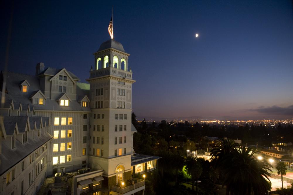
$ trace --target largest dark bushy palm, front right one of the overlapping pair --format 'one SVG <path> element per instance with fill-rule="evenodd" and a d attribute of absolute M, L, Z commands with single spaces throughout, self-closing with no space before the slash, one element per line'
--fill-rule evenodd
<path fill-rule="evenodd" d="M 227 186 L 226 194 L 266 194 L 270 190 L 270 164 L 258 160 L 252 148 L 239 148 L 231 159 L 231 165 L 223 170 L 223 184 Z M 267 180 L 268 181 L 267 181 Z"/>

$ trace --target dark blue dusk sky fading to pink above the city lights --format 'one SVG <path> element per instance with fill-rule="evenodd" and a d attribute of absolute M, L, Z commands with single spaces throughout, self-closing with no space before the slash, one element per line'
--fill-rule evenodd
<path fill-rule="evenodd" d="M 15 2 L 8 70 L 44 62 L 85 82 L 113 4 L 137 116 L 292 118 L 292 0 Z M 1 7 L 3 69 L 11 4 Z"/>

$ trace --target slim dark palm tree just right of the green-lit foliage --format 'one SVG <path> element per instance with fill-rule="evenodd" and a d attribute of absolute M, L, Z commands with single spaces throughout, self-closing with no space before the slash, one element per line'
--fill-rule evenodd
<path fill-rule="evenodd" d="M 194 179 L 196 179 L 196 194 L 198 194 L 197 181 L 202 174 L 202 166 L 197 158 L 192 156 L 187 157 L 185 162 L 185 171 L 191 176 L 192 180 L 192 190 L 194 190 Z"/>

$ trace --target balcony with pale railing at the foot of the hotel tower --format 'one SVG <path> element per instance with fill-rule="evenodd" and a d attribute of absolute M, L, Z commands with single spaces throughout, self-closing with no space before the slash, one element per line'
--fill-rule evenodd
<path fill-rule="evenodd" d="M 130 186 L 126 186 L 124 188 L 120 188 L 118 186 L 112 186 L 112 192 L 110 194 L 116 195 L 116 194 L 134 194 L 138 191 L 144 190 L 144 180 L 142 179 L 137 179 L 137 178 L 132 178 L 132 181 L 134 184 L 131 184 Z M 114 192 L 114 193 L 113 193 Z"/>

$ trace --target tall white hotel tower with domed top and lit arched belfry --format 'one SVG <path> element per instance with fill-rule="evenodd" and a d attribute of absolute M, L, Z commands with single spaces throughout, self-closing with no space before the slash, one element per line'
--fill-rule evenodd
<path fill-rule="evenodd" d="M 89 167 L 103 169 L 104 186 L 131 179 L 132 72 L 122 44 L 110 39 L 100 45 L 90 78 Z"/>

